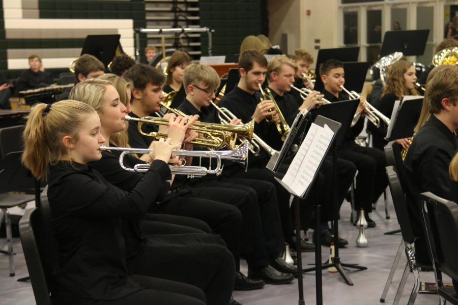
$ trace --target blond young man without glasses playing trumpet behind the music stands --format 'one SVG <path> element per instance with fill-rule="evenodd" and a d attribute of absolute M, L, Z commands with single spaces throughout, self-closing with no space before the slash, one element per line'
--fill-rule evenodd
<path fill-rule="evenodd" d="M 269 88 L 272 96 L 275 99 L 278 107 L 284 118 L 287 120 L 288 125 L 292 125 L 296 115 L 299 111 L 306 109 L 308 111 L 316 111 L 316 108 L 323 104 L 323 95 L 317 91 L 312 91 L 305 100 L 301 99 L 301 104 L 298 107 L 293 96 L 289 93 L 291 90 L 291 84 L 294 82 L 294 75 L 296 74 L 298 67 L 296 64 L 285 55 L 278 55 L 272 58 L 267 68 L 267 78 L 269 81 Z M 268 139 L 265 139 L 275 149 L 281 149 L 283 141 L 278 133 L 271 135 Z M 341 204 L 350 188 L 353 176 L 356 172 L 356 167 L 346 160 L 337 159 L 337 198 Z M 320 194 L 321 206 L 323 209 L 322 214 L 322 241 L 323 245 L 329 246 L 332 241 L 332 232 L 328 226 L 328 221 L 334 220 L 334 202 L 333 192 L 326 190 L 334 190 L 330 182 L 332 181 L 332 159 L 326 158 L 323 162 L 318 178 L 318 189 Z M 310 194 L 309 199 L 313 201 L 316 195 Z M 310 211 L 311 212 L 311 211 Z M 311 215 L 310 215 L 311 216 Z M 316 237 L 316 235 L 313 235 Z M 345 239 L 339 239 L 339 246 L 348 245 L 348 241 Z"/>

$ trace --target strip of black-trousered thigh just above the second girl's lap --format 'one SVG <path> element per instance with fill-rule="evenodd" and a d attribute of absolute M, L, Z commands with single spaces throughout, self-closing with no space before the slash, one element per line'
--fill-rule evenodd
<path fill-rule="evenodd" d="M 207 223 L 195 218 L 147 213 L 141 222 L 145 234 L 211 233 Z"/>

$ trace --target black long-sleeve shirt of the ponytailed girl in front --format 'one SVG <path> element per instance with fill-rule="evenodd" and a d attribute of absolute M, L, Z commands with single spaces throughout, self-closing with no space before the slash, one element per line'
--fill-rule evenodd
<path fill-rule="evenodd" d="M 53 275 L 53 301 L 79 298 L 113 300 L 143 289 L 128 276 L 121 218 L 143 215 L 170 175 L 154 161 L 130 192 L 109 184 L 90 165 L 59 162 L 48 173 L 53 234 L 58 242 L 59 270 Z"/>

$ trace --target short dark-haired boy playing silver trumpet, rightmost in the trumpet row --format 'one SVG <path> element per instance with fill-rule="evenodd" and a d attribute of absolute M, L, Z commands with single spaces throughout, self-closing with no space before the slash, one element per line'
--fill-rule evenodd
<path fill-rule="evenodd" d="M 344 65 L 335 59 L 328 59 L 320 67 L 321 80 L 324 84 L 323 94 L 325 99 L 332 102 L 349 100 L 347 94 L 342 92 L 345 84 Z M 375 227 L 376 223 L 370 218 L 372 204 L 378 200 L 386 189 L 388 180 L 385 173 L 385 155 L 383 151 L 363 147 L 355 143 L 355 138 L 364 127 L 364 99 L 361 98 L 352 127 L 348 130 L 346 138 L 337 147 L 337 156 L 356 165 L 355 208 L 364 208 L 368 227 Z"/>

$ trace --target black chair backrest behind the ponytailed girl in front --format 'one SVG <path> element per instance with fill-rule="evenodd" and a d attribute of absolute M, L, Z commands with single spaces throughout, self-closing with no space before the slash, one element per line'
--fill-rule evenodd
<path fill-rule="evenodd" d="M 19 221 L 19 233 L 37 305 L 50 305 L 51 275 L 58 266 L 58 254 L 38 208 L 25 211 Z"/>

